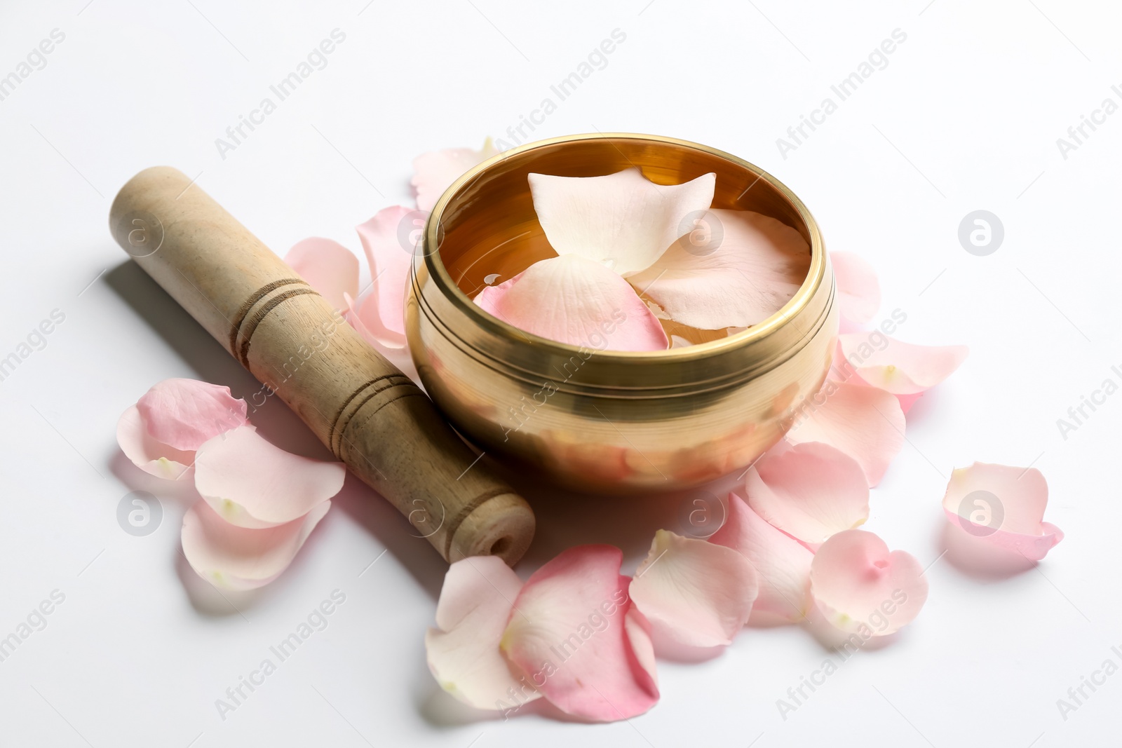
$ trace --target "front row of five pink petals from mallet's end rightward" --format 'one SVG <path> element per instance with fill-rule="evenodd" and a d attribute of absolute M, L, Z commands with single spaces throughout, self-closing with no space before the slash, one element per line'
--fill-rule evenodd
<path fill-rule="evenodd" d="M 525 583 L 499 558 L 444 578 L 429 668 L 458 700 L 516 713 L 544 698 L 589 721 L 629 719 L 659 700 L 655 654 L 732 644 L 749 619 L 798 622 L 810 606 L 855 647 L 899 630 L 927 599 L 919 562 L 872 533 L 843 530 L 815 553 L 736 495 L 712 541 L 659 530 L 634 578 L 623 552 L 569 548 Z"/>

